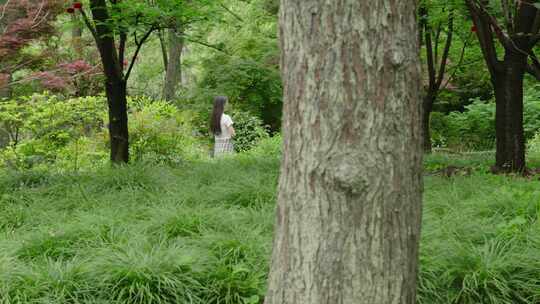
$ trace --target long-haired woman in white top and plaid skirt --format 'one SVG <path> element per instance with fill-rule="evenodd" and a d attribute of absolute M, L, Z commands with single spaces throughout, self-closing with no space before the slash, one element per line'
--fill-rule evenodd
<path fill-rule="evenodd" d="M 233 121 L 224 112 L 227 104 L 227 97 L 217 96 L 214 98 L 214 110 L 210 120 L 210 130 L 214 134 L 214 157 L 234 152 L 232 138 L 235 135 Z"/>

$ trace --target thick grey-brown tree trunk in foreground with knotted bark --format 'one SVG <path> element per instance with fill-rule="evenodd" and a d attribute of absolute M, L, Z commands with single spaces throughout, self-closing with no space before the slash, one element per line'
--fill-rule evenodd
<path fill-rule="evenodd" d="M 415 4 L 281 1 L 284 155 L 266 304 L 415 303 Z"/>

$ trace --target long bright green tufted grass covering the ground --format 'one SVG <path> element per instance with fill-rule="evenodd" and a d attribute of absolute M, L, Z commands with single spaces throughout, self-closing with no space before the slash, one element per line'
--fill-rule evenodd
<path fill-rule="evenodd" d="M 279 160 L 0 177 L 0 304 L 256 304 Z M 540 188 L 487 174 L 492 155 L 436 154 L 470 175 L 425 180 L 419 303 L 540 303 Z"/>

